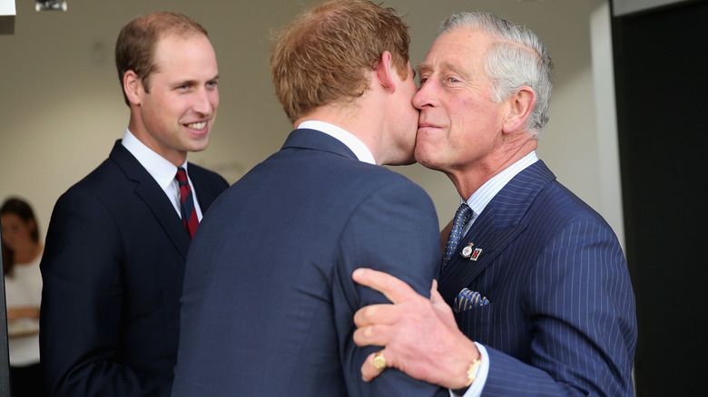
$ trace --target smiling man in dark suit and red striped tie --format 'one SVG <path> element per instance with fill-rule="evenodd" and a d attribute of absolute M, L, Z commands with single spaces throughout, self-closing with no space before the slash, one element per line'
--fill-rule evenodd
<path fill-rule="evenodd" d="M 169 395 L 187 249 L 228 187 L 187 163 L 209 144 L 219 106 L 202 26 L 173 13 L 136 18 L 115 61 L 128 128 L 57 201 L 46 238 L 40 349 L 49 395 Z"/>

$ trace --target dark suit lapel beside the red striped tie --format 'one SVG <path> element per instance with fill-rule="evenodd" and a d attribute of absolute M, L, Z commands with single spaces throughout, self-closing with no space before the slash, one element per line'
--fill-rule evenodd
<path fill-rule="evenodd" d="M 186 233 L 182 220 L 172 208 L 172 203 L 167 199 L 164 191 L 140 162 L 123 147 L 120 140 L 113 146 L 110 157 L 123 169 L 127 179 L 136 182 L 135 194 L 152 210 L 152 214 L 157 218 L 162 229 L 170 237 L 182 257 L 186 259 L 192 239 L 189 233 Z"/>

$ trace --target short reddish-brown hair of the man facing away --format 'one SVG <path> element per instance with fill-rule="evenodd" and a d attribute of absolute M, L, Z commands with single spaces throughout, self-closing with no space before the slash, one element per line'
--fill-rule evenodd
<path fill-rule="evenodd" d="M 270 75 L 291 122 L 316 108 L 359 98 L 367 70 L 384 51 L 408 77 L 408 25 L 393 8 L 363 0 L 327 0 L 306 10 L 275 38 Z"/>

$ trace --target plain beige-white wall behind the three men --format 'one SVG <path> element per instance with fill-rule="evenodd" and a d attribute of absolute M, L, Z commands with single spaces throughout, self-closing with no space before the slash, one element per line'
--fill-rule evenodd
<path fill-rule="evenodd" d="M 221 107 L 210 148 L 192 154 L 192 161 L 233 182 L 280 148 L 290 125 L 270 84 L 269 34 L 303 5 L 316 1 L 67 3 L 65 13 L 36 13 L 34 2 L 18 2 L 15 34 L 0 35 L 0 199 L 11 194 L 29 199 L 42 228 L 58 196 L 105 159 L 113 141 L 123 135 L 128 109 L 114 70 L 113 45 L 123 24 L 135 15 L 158 9 L 182 12 L 210 33 L 220 66 Z M 562 183 L 621 230 L 619 187 L 603 182 L 605 174 L 618 171 L 616 166 L 601 167 L 607 137 L 598 134 L 605 124 L 597 121 L 605 116 L 595 106 L 596 82 L 611 76 L 606 70 L 598 75 L 591 58 L 591 15 L 606 4 L 607 0 L 384 2 L 398 8 L 411 25 L 412 63 L 422 61 L 439 22 L 453 12 L 489 11 L 534 30 L 556 63 L 556 91 L 539 157 Z M 609 40 L 609 22 L 601 29 L 607 32 L 599 39 Z M 418 165 L 394 169 L 428 191 L 440 223 L 447 223 L 458 205 L 447 177 Z"/>

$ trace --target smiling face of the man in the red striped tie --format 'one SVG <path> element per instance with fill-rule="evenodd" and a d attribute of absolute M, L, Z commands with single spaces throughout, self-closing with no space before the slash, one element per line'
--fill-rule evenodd
<path fill-rule="evenodd" d="M 138 131 L 132 132 L 163 158 L 181 165 L 188 151 L 209 144 L 219 107 L 216 53 L 202 34 L 167 35 L 154 56 L 157 71 L 150 76 L 150 92 L 140 90 Z"/>

